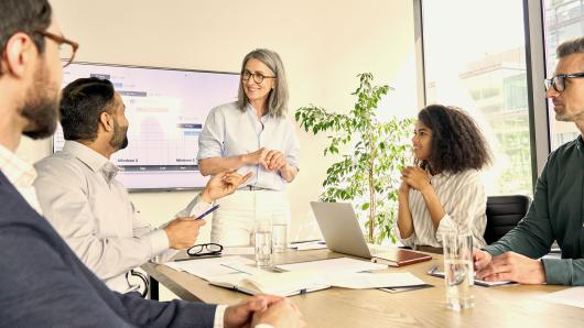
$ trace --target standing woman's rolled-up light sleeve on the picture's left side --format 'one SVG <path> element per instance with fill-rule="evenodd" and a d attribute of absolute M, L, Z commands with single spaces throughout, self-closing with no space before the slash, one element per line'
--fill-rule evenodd
<path fill-rule="evenodd" d="M 214 108 L 205 121 L 203 131 L 198 136 L 197 161 L 221 157 L 225 142 L 225 118 L 217 108 Z"/>

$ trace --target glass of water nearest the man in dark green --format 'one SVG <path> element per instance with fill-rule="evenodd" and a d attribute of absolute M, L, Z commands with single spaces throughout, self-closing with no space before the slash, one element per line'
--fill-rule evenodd
<path fill-rule="evenodd" d="M 447 233 L 442 243 L 446 307 L 454 310 L 474 307 L 473 234 Z"/>

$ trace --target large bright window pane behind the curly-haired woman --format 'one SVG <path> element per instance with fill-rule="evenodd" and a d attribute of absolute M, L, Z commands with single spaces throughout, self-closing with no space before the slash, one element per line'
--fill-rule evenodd
<path fill-rule="evenodd" d="M 458 106 L 482 125 L 489 194 L 532 194 L 523 1 L 421 3 L 426 103 Z"/>

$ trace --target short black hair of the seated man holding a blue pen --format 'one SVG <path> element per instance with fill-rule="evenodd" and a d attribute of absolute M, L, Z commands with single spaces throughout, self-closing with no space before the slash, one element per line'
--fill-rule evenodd
<path fill-rule="evenodd" d="M 95 141 L 99 116 L 113 105 L 116 91 L 107 79 L 79 78 L 63 89 L 61 125 L 65 140 Z"/>

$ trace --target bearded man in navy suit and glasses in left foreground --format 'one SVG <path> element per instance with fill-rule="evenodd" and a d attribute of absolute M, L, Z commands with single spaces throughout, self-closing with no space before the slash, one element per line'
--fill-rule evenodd
<path fill-rule="evenodd" d="M 60 48 L 67 46 L 77 44 L 63 36 L 46 0 L 0 1 L 0 326 L 303 326 L 298 308 L 282 297 L 255 296 L 227 307 L 112 292 L 34 210 L 35 170 L 14 152 L 22 134 L 54 132 Z"/>

